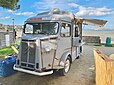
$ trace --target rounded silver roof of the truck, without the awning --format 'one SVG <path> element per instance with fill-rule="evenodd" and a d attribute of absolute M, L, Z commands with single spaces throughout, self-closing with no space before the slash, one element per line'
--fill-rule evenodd
<path fill-rule="evenodd" d="M 49 21 L 57 21 L 57 20 L 63 20 L 67 22 L 71 22 L 72 19 L 74 19 L 74 15 L 71 12 L 67 11 L 60 11 L 59 9 L 53 9 L 47 12 L 39 13 L 37 16 L 31 17 L 27 19 L 27 22 L 35 22 L 35 21 L 43 21 L 43 20 L 49 20 Z"/>

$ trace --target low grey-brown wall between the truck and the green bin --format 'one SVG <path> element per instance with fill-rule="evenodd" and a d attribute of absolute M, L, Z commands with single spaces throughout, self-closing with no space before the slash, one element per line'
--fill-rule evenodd
<path fill-rule="evenodd" d="M 100 43 L 100 36 L 83 36 L 82 39 L 85 43 Z"/>

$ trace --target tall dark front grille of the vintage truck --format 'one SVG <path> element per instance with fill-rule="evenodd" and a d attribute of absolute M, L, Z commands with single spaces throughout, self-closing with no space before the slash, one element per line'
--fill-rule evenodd
<path fill-rule="evenodd" d="M 35 64 L 35 52 L 36 43 L 35 41 L 23 41 L 21 43 L 21 62 L 29 64 L 29 67 L 33 67 L 30 64 Z M 23 65 L 23 64 L 22 64 Z"/>

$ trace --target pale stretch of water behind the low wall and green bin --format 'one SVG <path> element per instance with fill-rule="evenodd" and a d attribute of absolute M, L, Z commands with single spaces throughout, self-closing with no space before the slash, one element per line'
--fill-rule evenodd
<path fill-rule="evenodd" d="M 114 30 L 83 30 L 83 36 L 100 36 L 101 43 L 106 43 L 106 38 L 111 38 L 111 43 L 114 44 Z"/>

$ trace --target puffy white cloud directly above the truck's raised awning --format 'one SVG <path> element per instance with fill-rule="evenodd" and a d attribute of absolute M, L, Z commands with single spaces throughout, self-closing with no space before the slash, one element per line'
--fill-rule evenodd
<path fill-rule="evenodd" d="M 112 10 L 106 7 L 95 8 L 95 7 L 83 7 L 79 6 L 79 11 L 76 13 L 77 16 L 103 16 L 111 14 Z"/>

